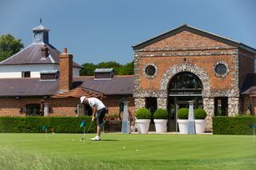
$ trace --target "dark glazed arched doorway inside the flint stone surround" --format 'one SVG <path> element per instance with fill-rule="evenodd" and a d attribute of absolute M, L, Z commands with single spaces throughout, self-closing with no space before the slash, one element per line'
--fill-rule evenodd
<path fill-rule="evenodd" d="M 190 72 L 176 74 L 169 84 L 168 131 L 178 131 L 178 109 L 189 108 L 189 101 L 194 101 L 194 109 L 202 108 L 202 81 Z"/>

